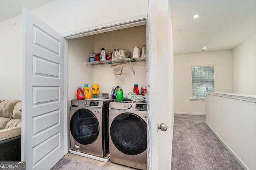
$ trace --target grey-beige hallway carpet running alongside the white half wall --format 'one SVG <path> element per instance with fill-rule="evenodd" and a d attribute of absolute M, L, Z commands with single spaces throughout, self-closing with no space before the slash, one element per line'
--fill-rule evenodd
<path fill-rule="evenodd" d="M 205 116 L 174 116 L 172 170 L 243 170 L 205 123 Z"/>

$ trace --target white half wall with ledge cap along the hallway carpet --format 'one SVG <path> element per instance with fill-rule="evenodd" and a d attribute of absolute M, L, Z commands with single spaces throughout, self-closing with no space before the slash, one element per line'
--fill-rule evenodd
<path fill-rule="evenodd" d="M 244 169 L 256 169 L 256 96 L 207 93 L 206 123 Z"/>

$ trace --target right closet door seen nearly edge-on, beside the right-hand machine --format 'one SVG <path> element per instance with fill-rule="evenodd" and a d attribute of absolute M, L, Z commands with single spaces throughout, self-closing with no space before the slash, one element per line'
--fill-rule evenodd
<path fill-rule="evenodd" d="M 158 139 L 157 139 L 157 27 L 156 0 L 148 1 L 147 16 L 147 148 L 148 170 L 158 169 Z M 155 24 L 154 24 L 155 23 Z"/>

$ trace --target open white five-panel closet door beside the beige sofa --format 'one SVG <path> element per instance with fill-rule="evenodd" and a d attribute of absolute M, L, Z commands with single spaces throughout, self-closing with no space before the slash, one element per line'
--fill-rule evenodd
<path fill-rule="evenodd" d="M 22 8 L 22 157 L 50 169 L 64 156 L 64 37 Z"/>

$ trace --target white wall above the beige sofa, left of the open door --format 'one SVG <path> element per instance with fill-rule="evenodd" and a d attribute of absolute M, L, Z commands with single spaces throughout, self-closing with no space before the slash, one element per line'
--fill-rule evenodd
<path fill-rule="evenodd" d="M 0 23 L 0 99 L 21 100 L 21 16 Z"/>

